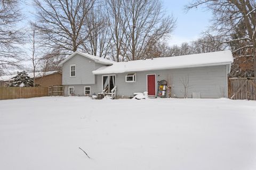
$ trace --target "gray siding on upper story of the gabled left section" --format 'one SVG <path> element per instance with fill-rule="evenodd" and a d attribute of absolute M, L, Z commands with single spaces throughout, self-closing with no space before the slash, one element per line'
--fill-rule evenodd
<path fill-rule="evenodd" d="M 70 65 L 73 64 L 76 65 L 76 77 L 70 77 Z M 67 62 L 63 63 L 62 84 L 95 84 L 95 75 L 92 74 L 92 71 L 101 66 L 103 65 L 76 54 Z"/>

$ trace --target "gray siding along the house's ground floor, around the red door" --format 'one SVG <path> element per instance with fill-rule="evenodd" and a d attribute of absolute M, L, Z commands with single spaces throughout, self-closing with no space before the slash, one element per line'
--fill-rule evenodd
<path fill-rule="evenodd" d="M 156 74 L 156 88 L 157 81 L 170 80 L 172 95 L 175 94 L 179 98 L 184 97 L 182 79 L 186 77 L 189 78 L 189 98 L 192 92 L 200 92 L 202 98 L 227 97 L 226 65 L 136 72 L 136 82 L 125 82 L 126 74 L 115 74 L 117 96 L 133 96 L 134 92 L 147 91 L 147 74 Z M 94 92 L 98 94 L 102 91 L 102 75 L 95 75 L 94 82 L 94 84 L 84 83 L 70 86 L 75 87 L 76 95 L 84 95 L 84 86 L 91 86 L 91 94 Z M 65 95 L 68 95 L 68 86 L 65 86 Z"/>

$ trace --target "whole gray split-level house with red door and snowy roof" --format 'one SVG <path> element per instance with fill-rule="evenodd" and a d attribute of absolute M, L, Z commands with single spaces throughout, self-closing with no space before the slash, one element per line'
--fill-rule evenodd
<path fill-rule="evenodd" d="M 92 95 L 116 88 L 117 97 L 131 97 L 134 92 L 157 95 L 157 82 L 166 80 L 172 96 L 201 98 L 228 96 L 227 75 L 233 56 L 230 50 L 177 57 L 114 62 L 105 58 L 74 52 L 62 61 L 62 85 L 66 96 Z"/>

